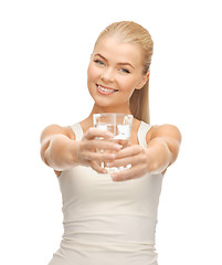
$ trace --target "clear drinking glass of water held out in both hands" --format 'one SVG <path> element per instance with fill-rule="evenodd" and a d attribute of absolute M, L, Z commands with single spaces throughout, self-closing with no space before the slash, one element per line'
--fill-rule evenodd
<path fill-rule="evenodd" d="M 110 139 L 126 148 L 129 146 L 129 139 L 131 136 L 131 125 L 133 125 L 133 115 L 128 114 L 115 114 L 115 113 L 103 113 L 93 115 L 94 127 L 108 130 L 114 134 L 114 138 Z M 99 138 L 103 140 L 103 138 Z M 96 151 L 104 152 L 104 150 L 96 149 Z M 116 172 L 127 168 L 130 168 L 131 165 L 126 167 L 112 167 L 107 166 L 108 161 L 103 161 L 101 163 L 102 168 L 105 168 L 107 172 Z"/>

